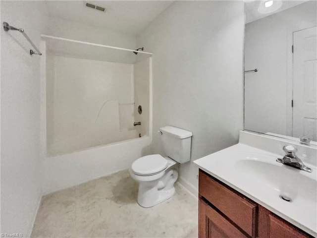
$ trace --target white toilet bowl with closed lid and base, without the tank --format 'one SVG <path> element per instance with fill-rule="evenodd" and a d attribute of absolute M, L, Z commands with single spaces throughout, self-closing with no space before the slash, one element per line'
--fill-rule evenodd
<path fill-rule="evenodd" d="M 132 164 L 129 172 L 139 182 L 138 203 L 142 207 L 153 207 L 175 193 L 178 164 L 168 157 L 141 157 Z"/>

